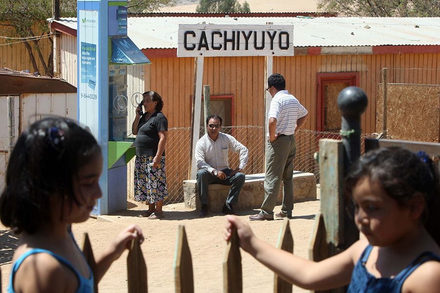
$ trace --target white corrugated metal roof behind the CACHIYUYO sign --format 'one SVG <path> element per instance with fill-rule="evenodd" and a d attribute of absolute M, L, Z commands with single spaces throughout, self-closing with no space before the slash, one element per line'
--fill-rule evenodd
<path fill-rule="evenodd" d="M 76 30 L 75 18 L 55 22 Z M 129 17 L 128 36 L 141 49 L 177 48 L 178 25 L 201 23 L 293 25 L 295 47 L 440 45 L 440 18 Z"/>

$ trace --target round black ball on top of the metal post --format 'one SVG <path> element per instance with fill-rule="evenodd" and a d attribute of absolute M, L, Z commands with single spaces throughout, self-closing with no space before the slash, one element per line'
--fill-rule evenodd
<path fill-rule="evenodd" d="M 342 116 L 360 116 L 367 105 L 367 94 L 357 86 L 347 86 L 338 95 L 338 108 Z"/>

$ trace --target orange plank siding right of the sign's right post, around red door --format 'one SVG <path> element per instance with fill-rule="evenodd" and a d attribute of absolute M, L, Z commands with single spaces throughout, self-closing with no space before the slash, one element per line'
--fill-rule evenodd
<path fill-rule="evenodd" d="M 367 110 L 361 117 L 362 132 L 374 133 L 377 84 L 382 82 L 382 68 L 389 68 L 389 83 L 440 84 L 439 63 L 440 54 L 431 53 L 275 57 L 273 72 L 286 77 L 286 89 L 308 109 L 309 118 L 305 128 L 310 130 L 316 129 L 316 74 L 359 72 L 359 85 L 369 99 Z"/>

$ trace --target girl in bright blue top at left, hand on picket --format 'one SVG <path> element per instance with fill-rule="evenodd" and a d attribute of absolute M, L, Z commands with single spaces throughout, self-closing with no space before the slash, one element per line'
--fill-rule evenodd
<path fill-rule="evenodd" d="M 8 292 L 93 292 L 94 278 L 143 240 L 136 225 L 123 230 L 91 272 L 70 225 L 86 221 L 101 197 L 102 165 L 96 140 L 71 120 L 46 118 L 20 135 L 0 197 L 1 222 L 21 235 Z"/>

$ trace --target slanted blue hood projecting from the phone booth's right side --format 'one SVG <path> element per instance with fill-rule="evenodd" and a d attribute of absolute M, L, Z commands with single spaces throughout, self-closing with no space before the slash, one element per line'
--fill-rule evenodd
<path fill-rule="evenodd" d="M 150 60 L 129 37 L 111 39 L 112 64 L 148 64 Z"/>

